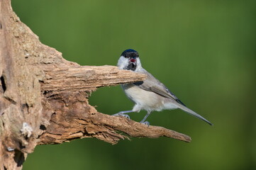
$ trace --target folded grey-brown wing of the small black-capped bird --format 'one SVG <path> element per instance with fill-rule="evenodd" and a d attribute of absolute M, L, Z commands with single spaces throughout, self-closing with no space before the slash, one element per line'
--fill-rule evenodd
<path fill-rule="evenodd" d="M 152 74 L 148 73 L 147 71 L 143 73 L 147 74 L 148 78 L 145 79 L 145 81 L 135 82 L 134 84 L 136 86 L 139 86 L 141 89 L 145 91 L 152 91 L 155 94 L 159 94 L 160 96 L 163 96 L 165 98 L 170 98 L 185 106 L 184 103 L 182 103 L 182 101 L 180 101 L 179 98 L 177 98 L 177 96 L 172 94 L 172 92 L 169 91 L 169 89 L 167 89 L 167 87 L 164 84 L 162 84 L 159 80 L 155 79 L 155 77 L 153 77 Z"/>

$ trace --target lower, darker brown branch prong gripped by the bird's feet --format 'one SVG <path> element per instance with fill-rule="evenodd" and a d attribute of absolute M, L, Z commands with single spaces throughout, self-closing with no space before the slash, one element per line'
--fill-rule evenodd
<path fill-rule="evenodd" d="M 66 97 L 65 97 L 66 96 Z M 162 127 L 148 126 L 122 117 L 98 113 L 89 106 L 85 93 L 61 94 L 43 100 L 45 111 L 51 112 L 50 125 L 40 137 L 40 144 L 57 144 L 84 137 L 96 137 L 111 144 L 130 137 L 172 137 L 190 142 L 190 137 Z M 68 106 L 65 106 L 68 104 Z M 48 107 L 47 107 L 48 106 Z M 54 108 L 54 110 L 52 110 Z"/>

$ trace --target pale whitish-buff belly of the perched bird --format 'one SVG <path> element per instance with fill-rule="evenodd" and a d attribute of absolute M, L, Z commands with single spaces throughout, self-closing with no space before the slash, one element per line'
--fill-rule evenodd
<path fill-rule="evenodd" d="M 165 98 L 152 91 L 145 91 L 133 84 L 123 85 L 123 90 L 130 100 L 136 103 L 138 111 L 162 111 L 165 107 Z"/>

